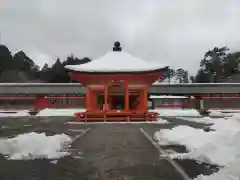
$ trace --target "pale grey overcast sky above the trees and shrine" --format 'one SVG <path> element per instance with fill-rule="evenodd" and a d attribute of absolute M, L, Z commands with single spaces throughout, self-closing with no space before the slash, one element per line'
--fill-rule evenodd
<path fill-rule="evenodd" d="M 195 73 L 209 48 L 240 50 L 240 1 L 0 0 L 0 33 L 40 65 L 97 58 L 119 40 L 134 56 Z"/>

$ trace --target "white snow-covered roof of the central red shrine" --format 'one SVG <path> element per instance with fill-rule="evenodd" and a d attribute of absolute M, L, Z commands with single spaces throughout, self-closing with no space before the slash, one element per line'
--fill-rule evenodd
<path fill-rule="evenodd" d="M 143 61 L 124 51 L 112 51 L 89 63 L 67 65 L 65 68 L 82 72 L 141 72 L 163 69 L 167 66 Z"/>

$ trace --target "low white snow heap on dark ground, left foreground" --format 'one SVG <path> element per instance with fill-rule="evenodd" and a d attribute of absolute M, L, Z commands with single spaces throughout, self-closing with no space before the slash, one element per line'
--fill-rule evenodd
<path fill-rule="evenodd" d="M 10 139 L 0 139 L 0 153 L 11 160 L 58 159 L 68 155 L 63 150 L 70 143 L 71 138 L 65 134 L 46 136 L 45 133 L 31 132 Z"/>

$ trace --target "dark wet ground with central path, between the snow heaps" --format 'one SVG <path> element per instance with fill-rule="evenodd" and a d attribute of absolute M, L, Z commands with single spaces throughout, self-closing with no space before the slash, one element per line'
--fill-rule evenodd
<path fill-rule="evenodd" d="M 13 137 L 25 132 L 65 133 L 72 137 L 91 131 L 72 144 L 71 156 L 52 160 L 12 161 L 0 156 L 1 180 L 181 180 L 182 177 L 143 136 L 179 124 L 202 128 L 200 123 L 170 118 L 169 124 L 66 124 L 68 117 L 20 117 L 0 119 L 0 137 Z M 181 146 L 164 149 L 184 151 Z M 212 167 L 193 160 L 178 161 L 190 177 L 210 174 Z"/>

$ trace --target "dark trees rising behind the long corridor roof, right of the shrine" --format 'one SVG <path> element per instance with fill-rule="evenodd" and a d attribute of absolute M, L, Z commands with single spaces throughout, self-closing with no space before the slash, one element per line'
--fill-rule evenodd
<path fill-rule="evenodd" d="M 195 76 L 189 76 L 184 69 L 171 69 L 164 74 L 164 79 L 174 77 L 179 83 L 214 83 L 224 80 L 240 71 L 240 52 L 230 52 L 224 47 L 214 47 L 208 50 L 200 60 L 199 70 Z"/>

